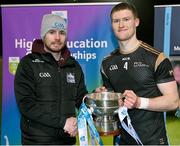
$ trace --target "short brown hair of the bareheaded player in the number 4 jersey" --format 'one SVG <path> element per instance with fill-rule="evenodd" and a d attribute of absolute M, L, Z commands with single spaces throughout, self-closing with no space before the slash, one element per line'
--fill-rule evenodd
<path fill-rule="evenodd" d="M 112 14 L 114 12 L 117 12 L 117 11 L 120 11 L 120 10 L 130 10 L 130 11 L 132 11 L 134 17 L 138 18 L 138 12 L 137 12 L 136 7 L 132 3 L 126 3 L 126 2 L 119 3 L 119 4 L 115 5 L 112 8 L 112 10 L 111 10 L 111 18 L 112 18 Z"/>

